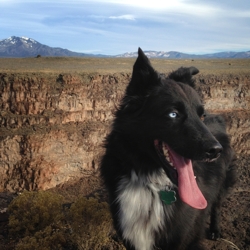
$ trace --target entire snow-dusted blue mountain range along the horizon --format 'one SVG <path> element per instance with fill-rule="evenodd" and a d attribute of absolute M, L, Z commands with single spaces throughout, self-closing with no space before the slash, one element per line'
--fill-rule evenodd
<path fill-rule="evenodd" d="M 144 51 L 150 58 L 195 59 L 195 58 L 250 58 L 250 51 L 219 52 L 213 54 L 195 55 L 176 51 Z M 37 57 L 37 56 L 65 56 L 65 57 L 137 57 L 137 52 L 109 56 L 73 52 L 62 48 L 52 48 L 27 37 L 11 36 L 0 40 L 0 57 Z"/>

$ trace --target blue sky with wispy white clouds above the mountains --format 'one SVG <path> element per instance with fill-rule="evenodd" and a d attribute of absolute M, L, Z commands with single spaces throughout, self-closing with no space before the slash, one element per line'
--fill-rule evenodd
<path fill-rule="evenodd" d="M 250 50 L 250 0 L 0 0 L 0 40 L 75 52 Z"/>

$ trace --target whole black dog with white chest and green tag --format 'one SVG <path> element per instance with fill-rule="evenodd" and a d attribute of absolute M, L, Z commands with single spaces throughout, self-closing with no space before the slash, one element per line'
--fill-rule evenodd
<path fill-rule="evenodd" d="M 106 139 L 101 174 L 127 249 L 204 249 L 206 220 L 220 236 L 220 204 L 235 182 L 220 116 L 206 115 L 195 67 L 159 75 L 139 48 Z"/>

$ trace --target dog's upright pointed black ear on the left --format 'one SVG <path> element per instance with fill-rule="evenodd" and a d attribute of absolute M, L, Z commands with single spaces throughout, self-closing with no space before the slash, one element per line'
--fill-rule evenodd
<path fill-rule="evenodd" d="M 139 48 L 138 57 L 133 67 L 132 78 L 127 88 L 127 95 L 145 96 L 158 83 L 158 73 L 154 70 L 141 48 Z"/>

